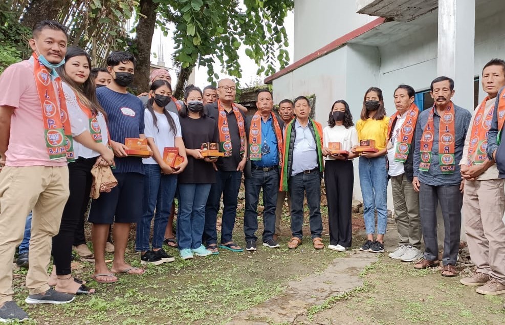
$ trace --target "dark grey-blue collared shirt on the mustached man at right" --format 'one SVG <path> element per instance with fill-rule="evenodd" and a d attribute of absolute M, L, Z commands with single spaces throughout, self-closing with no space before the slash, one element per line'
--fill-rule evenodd
<path fill-rule="evenodd" d="M 419 170 L 419 164 L 421 163 L 421 138 L 423 130 L 428 123 L 430 112 L 431 109 L 419 114 L 415 128 L 414 177 L 418 177 L 420 182 L 431 186 L 458 185 L 461 183 L 459 161 L 461 161 L 461 157 L 463 156 L 463 147 L 472 114 L 468 110 L 454 105 L 454 126 L 456 129 L 456 141 L 454 143 L 455 171 L 452 174 L 442 174 L 440 163 L 438 162 L 438 126 L 440 124 L 440 115 L 438 115 L 436 110 L 435 114 L 433 114 L 433 146 L 431 147 L 432 158 L 430 169 L 429 171 Z"/>

